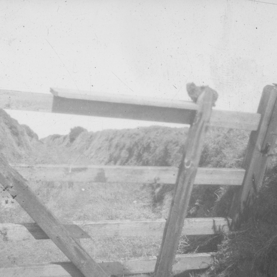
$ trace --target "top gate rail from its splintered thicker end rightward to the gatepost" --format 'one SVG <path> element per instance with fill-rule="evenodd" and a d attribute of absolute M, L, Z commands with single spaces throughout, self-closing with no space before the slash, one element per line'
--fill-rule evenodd
<path fill-rule="evenodd" d="M 189 101 L 128 95 L 103 95 L 50 88 L 53 112 L 191 124 L 198 105 Z M 257 130 L 260 114 L 213 110 L 210 125 Z"/>

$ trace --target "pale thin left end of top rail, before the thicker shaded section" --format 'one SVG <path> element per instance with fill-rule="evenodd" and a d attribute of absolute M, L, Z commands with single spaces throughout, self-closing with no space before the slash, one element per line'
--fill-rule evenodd
<path fill-rule="evenodd" d="M 53 95 L 17 90 L 0 90 L 0 108 L 10 110 L 52 111 Z"/>

